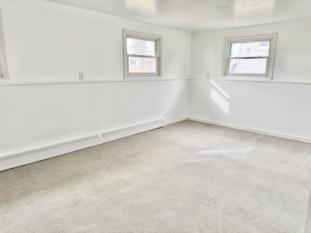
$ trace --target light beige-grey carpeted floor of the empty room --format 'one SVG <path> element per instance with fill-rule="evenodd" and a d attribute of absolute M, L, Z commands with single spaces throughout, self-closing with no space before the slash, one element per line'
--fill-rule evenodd
<path fill-rule="evenodd" d="M 302 233 L 311 144 L 187 120 L 0 181 L 1 233 Z"/>

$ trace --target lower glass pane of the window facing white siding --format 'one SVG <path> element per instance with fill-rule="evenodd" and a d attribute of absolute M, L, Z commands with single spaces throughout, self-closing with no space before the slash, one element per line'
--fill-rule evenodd
<path fill-rule="evenodd" d="M 231 59 L 228 73 L 240 74 L 265 74 L 266 58 L 258 59 Z"/>

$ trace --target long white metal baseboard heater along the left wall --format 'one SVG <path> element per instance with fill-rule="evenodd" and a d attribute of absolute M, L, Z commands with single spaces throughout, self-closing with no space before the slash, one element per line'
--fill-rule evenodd
<path fill-rule="evenodd" d="M 164 126 L 165 126 L 165 119 L 158 119 L 140 125 L 135 125 L 105 133 L 98 133 L 95 135 L 90 135 L 87 137 L 78 138 L 71 141 L 61 142 L 46 147 L 40 147 L 34 150 L 26 150 L 17 153 L 1 155 L 0 171 L 34 163 L 40 160 L 70 153 L 76 150 L 82 150 L 105 142 L 120 139 L 122 137 L 127 137 L 137 133 L 143 133 Z"/>

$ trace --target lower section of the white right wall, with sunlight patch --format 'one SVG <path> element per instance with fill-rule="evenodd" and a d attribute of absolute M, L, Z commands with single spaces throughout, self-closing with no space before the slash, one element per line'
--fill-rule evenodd
<path fill-rule="evenodd" d="M 311 140 L 310 100 L 311 84 L 190 80 L 188 116 Z"/>

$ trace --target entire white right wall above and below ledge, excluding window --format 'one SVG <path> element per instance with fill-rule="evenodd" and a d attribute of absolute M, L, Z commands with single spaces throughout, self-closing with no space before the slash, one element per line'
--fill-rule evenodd
<path fill-rule="evenodd" d="M 311 139 L 311 18 L 192 33 L 188 116 Z M 274 82 L 221 80 L 224 38 L 278 33 Z M 310 84 L 276 83 L 306 82 Z"/>

